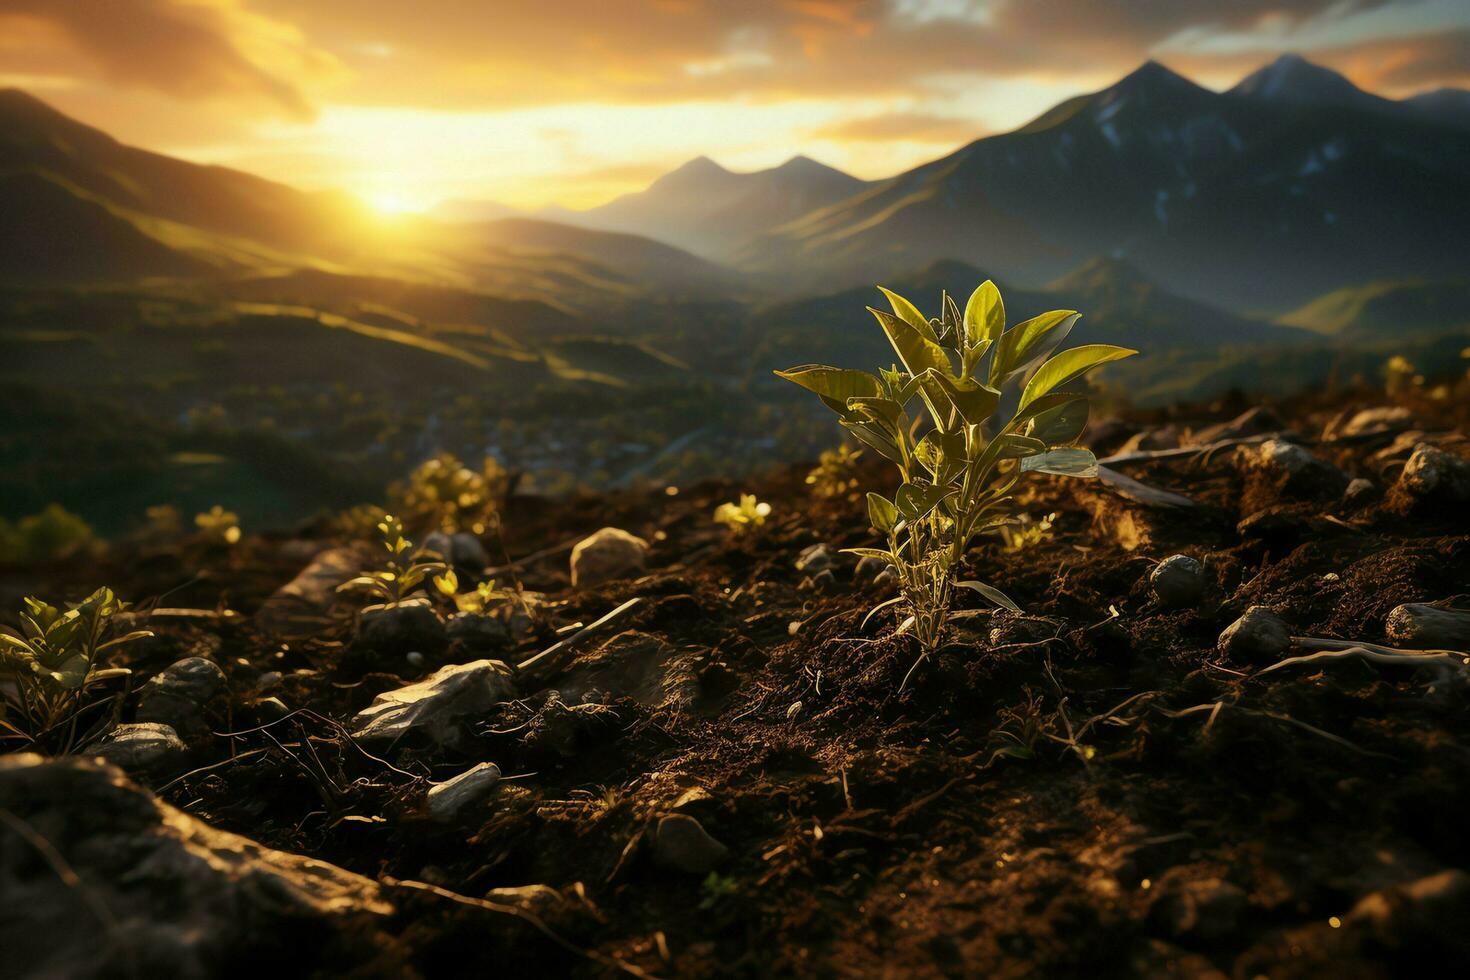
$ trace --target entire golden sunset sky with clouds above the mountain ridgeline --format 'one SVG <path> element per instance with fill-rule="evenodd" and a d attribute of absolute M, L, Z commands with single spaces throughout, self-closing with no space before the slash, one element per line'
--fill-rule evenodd
<path fill-rule="evenodd" d="M 591 207 L 694 156 L 861 178 L 1155 59 L 1470 88 L 1470 0 L 0 0 L 0 87 L 385 210 Z"/>

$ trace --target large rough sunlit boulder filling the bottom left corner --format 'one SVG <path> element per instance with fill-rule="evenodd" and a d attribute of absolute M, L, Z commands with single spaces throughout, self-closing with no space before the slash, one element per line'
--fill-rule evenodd
<path fill-rule="evenodd" d="M 215 830 L 96 760 L 0 758 L 0 810 L 79 879 L 0 832 L 6 976 L 203 979 L 260 962 L 353 971 L 392 912 L 376 882 Z M 90 932 L 72 940 L 72 929 Z"/>

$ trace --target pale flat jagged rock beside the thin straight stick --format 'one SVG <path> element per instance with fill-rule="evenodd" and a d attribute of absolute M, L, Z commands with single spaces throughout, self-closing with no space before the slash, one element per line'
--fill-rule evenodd
<path fill-rule="evenodd" d="M 465 739 L 470 721 L 514 696 L 510 669 L 498 660 L 450 664 L 417 683 L 379 693 L 353 718 L 353 735 L 453 746 Z"/>

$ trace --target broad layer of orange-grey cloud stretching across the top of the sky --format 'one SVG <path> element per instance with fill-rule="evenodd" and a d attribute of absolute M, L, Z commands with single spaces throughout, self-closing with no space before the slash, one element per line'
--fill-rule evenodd
<path fill-rule="evenodd" d="M 932 106 L 925 100 L 953 96 L 966 79 L 1101 85 L 1160 50 L 1172 59 L 1217 34 L 1279 44 L 1324 25 L 1421 6 L 1419 0 L 0 0 L 0 16 L 22 12 L 57 28 L 113 82 L 184 97 L 247 97 L 303 118 L 320 100 L 323 79 L 332 82 L 331 101 L 357 106 L 498 110 L 901 98 L 926 112 Z M 1464 19 L 1470 26 L 1470 16 Z M 1441 73 L 1455 69 L 1449 56 L 1436 65 Z M 1402 66 L 1382 75 L 1413 71 Z"/>

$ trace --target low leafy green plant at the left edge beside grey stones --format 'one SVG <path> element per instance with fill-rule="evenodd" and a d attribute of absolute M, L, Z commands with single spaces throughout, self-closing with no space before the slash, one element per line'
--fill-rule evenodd
<path fill-rule="evenodd" d="M 87 693 L 125 667 L 103 667 L 103 654 L 144 636 L 135 630 L 106 639 L 112 620 L 126 608 L 112 589 L 97 589 L 63 613 L 28 597 L 21 633 L 0 630 L 0 669 L 10 685 L 0 689 L 0 738 L 28 746 L 69 752 L 82 732 L 82 714 L 93 707 Z"/>

